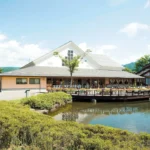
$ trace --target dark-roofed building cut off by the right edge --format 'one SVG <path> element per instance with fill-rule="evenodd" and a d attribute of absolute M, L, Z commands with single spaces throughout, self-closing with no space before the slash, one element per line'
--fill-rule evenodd
<path fill-rule="evenodd" d="M 145 67 L 143 67 L 143 69 L 137 74 L 145 77 L 145 84 L 150 85 L 150 64 L 147 64 Z"/>

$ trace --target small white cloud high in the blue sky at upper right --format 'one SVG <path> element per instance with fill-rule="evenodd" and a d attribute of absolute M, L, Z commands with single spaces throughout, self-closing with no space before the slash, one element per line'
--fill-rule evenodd
<path fill-rule="evenodd" d="M 129 37 L 134 37 L 139 31 L 150 31 L 150 26 L 141 23 L 129 23 L 120 32 L 127 34 Z"/>

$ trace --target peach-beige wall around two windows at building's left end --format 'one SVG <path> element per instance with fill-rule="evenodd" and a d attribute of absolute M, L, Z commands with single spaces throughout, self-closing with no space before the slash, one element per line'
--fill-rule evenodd
<path fill-rule="evenodd" d="M 16 84 L 16 78 L 27 78 L 27 84 Z M 29 78 L 40 78 L 40 84 L 29 84 Z M 46 77 L 2 77 L 2 90 L 3 89 L 45 89 Z"/>

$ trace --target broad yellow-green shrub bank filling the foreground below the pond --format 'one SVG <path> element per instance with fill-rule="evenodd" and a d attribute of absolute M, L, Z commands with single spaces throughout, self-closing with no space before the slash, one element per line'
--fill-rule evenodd
<path fill-rule="evenodd" d="M 28 150 L 142 150 L 149 149 L 149 134 L 75 122 L 55 121 L 27 106 L 0 102 L 0 149 Z"/>

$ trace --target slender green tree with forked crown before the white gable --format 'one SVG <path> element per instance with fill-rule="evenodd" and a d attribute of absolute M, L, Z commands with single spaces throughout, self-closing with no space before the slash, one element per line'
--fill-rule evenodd
<path fill-rule="evenodd" d="M 81 56 L 75 56 L 72 59 L 65 59 L 64 57 L 62 57 L 61 55 L 59 55 L 58 52 L 54 52 L 53 55 L 55 56 L 59 56 L 59 58 L 62 60 L 62 62 L 64 63 L 64 65 L 66 67 L 68 67 L 69 72 L 70 72 L 70 87 L 72 87 L 72 81 L 73 81 L 73 73 L 77 70 L 80 60 L 81 60 Z"/>

